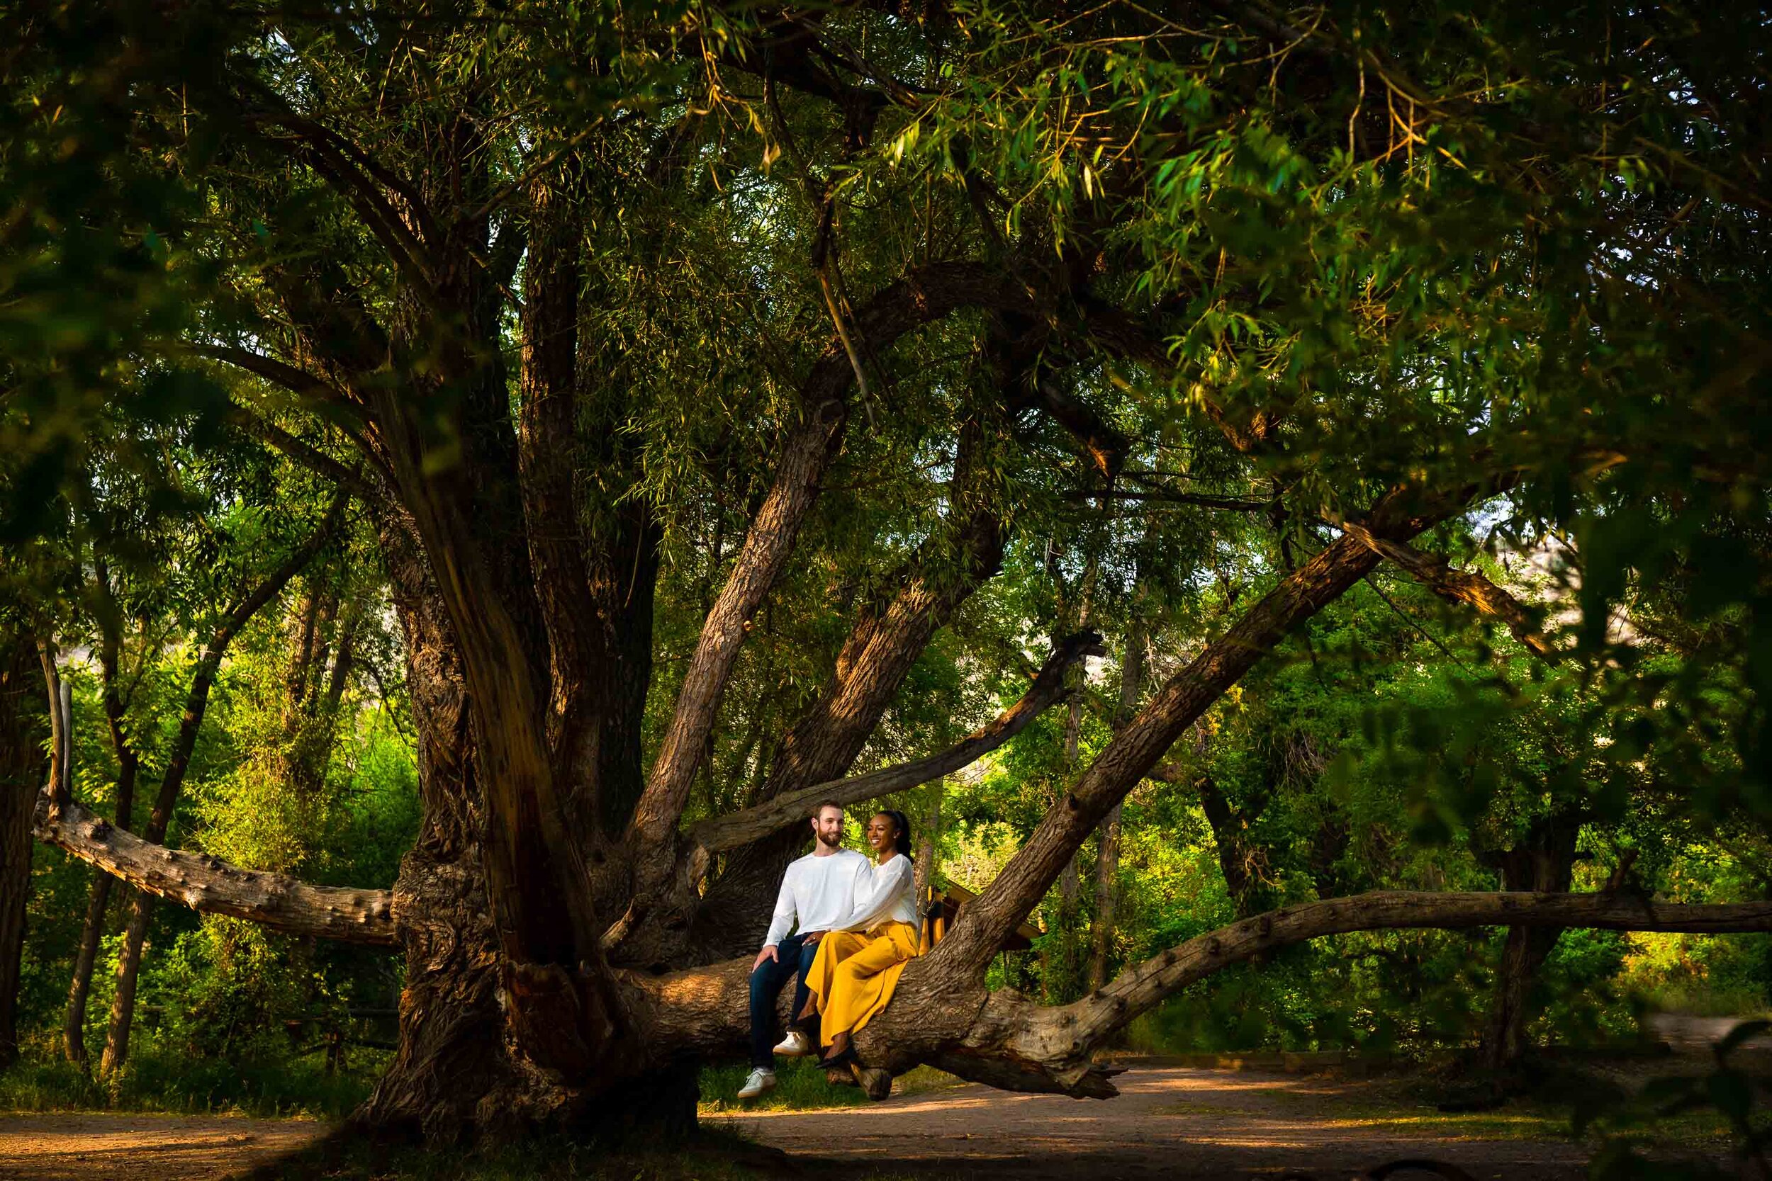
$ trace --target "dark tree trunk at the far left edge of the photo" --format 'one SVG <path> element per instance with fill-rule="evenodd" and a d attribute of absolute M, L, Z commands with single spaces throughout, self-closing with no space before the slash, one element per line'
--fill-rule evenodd
<path fill-rule="evenodd" d="M 0 648 L 0 1069 L 18 1057 L 18 977 L 30 896 L 30 818 L 43 779 L 48 705 L 37 650 Z"/>

